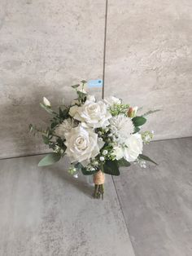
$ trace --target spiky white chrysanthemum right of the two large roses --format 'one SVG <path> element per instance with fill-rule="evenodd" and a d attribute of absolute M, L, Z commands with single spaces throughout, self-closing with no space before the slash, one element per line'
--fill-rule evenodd
<path fill-rule="evenodd" d="M 111 117 L 110 125 L 112 133 L 117 135 L 120 139 L 129 138 L 134 131 L 133 121 L 131 121 L 131 118 L 125 117 L 123 114 Z"/>

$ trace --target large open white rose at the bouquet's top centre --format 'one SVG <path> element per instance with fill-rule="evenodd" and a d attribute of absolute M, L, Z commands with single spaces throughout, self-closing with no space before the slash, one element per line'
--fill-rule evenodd
<path fill-rule="evenodd" d="M 74 118 L 81 121 L 84 127 L 98 128 L 109 125 L 111 113 L 107 111 L 107 105 L 103 101 L 95 103 L 86 100 L 84 105 L 76 109 Z"/>

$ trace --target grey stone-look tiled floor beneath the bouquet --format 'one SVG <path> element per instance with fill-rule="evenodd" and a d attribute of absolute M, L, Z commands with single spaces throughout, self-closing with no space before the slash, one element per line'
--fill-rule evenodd
<path fill-rule="evenodd" d="M 191 256 L 192 138 L 146 146 L 159 162 L 107 176 L 104 201 L 63 162 L 0 161 L 0 255 Z"/>

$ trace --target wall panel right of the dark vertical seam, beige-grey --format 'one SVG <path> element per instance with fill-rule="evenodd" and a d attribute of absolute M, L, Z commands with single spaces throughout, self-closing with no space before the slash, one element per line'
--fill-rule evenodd
<path fill-rule="evenodd" d="M 161 108 L 155 139 L 192 135 L 191 51 L 191 0 L 108 1 L 105 94 Z"/>

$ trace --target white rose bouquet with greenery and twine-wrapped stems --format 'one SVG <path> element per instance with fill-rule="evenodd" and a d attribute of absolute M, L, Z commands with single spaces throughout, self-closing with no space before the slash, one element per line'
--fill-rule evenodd
<path fill-rule="evenodd" d="M 103 198 L 105 174 L 120 175 L 120 167 L 136 163 L 146 168 L 151 158 L 142 154 L 143 144 L 150 143 L 153 131 L 140 132 L 149 111 L 137 116 L 137 107 L 109 97 L 96 101 L 85 91 L 85 81 L 72 86 L 76 99 L 69 106 L 60 105 L 55 111 L 50 101 L 43 98 L 41 107 L 50 114 L 46 130 L 29 125 L 33 135 L 40 133 L 53 150 L 42 158 L 38 166 L 49 166 L 67 155 L 71 160 L 69 173 L 77 177 L 94 175 L 94 197 Z"/>

